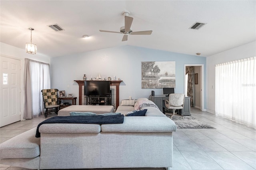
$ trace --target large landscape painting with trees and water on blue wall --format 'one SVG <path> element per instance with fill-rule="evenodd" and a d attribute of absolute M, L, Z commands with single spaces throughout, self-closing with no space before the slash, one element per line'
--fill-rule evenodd
<path fill-rule="evenodd" d="M 142 61 L 142 89 L 175 88 L 175 61 Z"/>

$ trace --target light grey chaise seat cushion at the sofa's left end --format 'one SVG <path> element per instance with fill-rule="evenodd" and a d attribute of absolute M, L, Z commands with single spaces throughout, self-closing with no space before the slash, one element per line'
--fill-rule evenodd
<path fill-rule="evenodd" d="M 40 155 L 40 138 L 36 138 L 36 127 L 0 144 L 0 159 L 36 158 Z"/>

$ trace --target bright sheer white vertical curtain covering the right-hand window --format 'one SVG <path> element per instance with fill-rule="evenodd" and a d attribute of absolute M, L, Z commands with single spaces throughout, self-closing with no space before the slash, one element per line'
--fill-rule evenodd
<path fill-rule="evenodd" d="M 256 57 L 215 66 L 215 111 L 256 128 Z"/>

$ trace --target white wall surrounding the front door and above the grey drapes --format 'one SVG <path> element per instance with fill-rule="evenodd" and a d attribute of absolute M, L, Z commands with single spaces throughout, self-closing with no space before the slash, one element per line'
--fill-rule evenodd
<path fill-rule="evenodd" d="M 20 81 L 21 81 L 21 103 L 20 103 L 20 109 L 21 109 L 21 120 L 23 120 L 23 109 L 24 109 L 24 61 L 25 58 L 33 59 L 36 61 L 41 61 L 44 63 L 50 63 L 50 57 L 42 55 L 40 53 L 36 53 L 35 55 L 26 53 L 25 50 L 25 44 L 24 49 L 14 47 L 12 45 L 8 45 L 6 43 L 0 42 L 0 55 L 4 57 L 10 57 L 20 60 L 20 66 L 21 66 L 21 75 L 20 75 Z"/>

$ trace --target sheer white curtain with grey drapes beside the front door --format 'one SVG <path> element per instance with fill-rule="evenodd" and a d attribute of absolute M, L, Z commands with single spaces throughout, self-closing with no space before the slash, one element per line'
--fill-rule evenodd
<path fill-rule="evenodd" d="M 50 65 L 25 59 L 24 119 L 38 117 L 44 111 L 42 89 L 50 89 Z"/>

